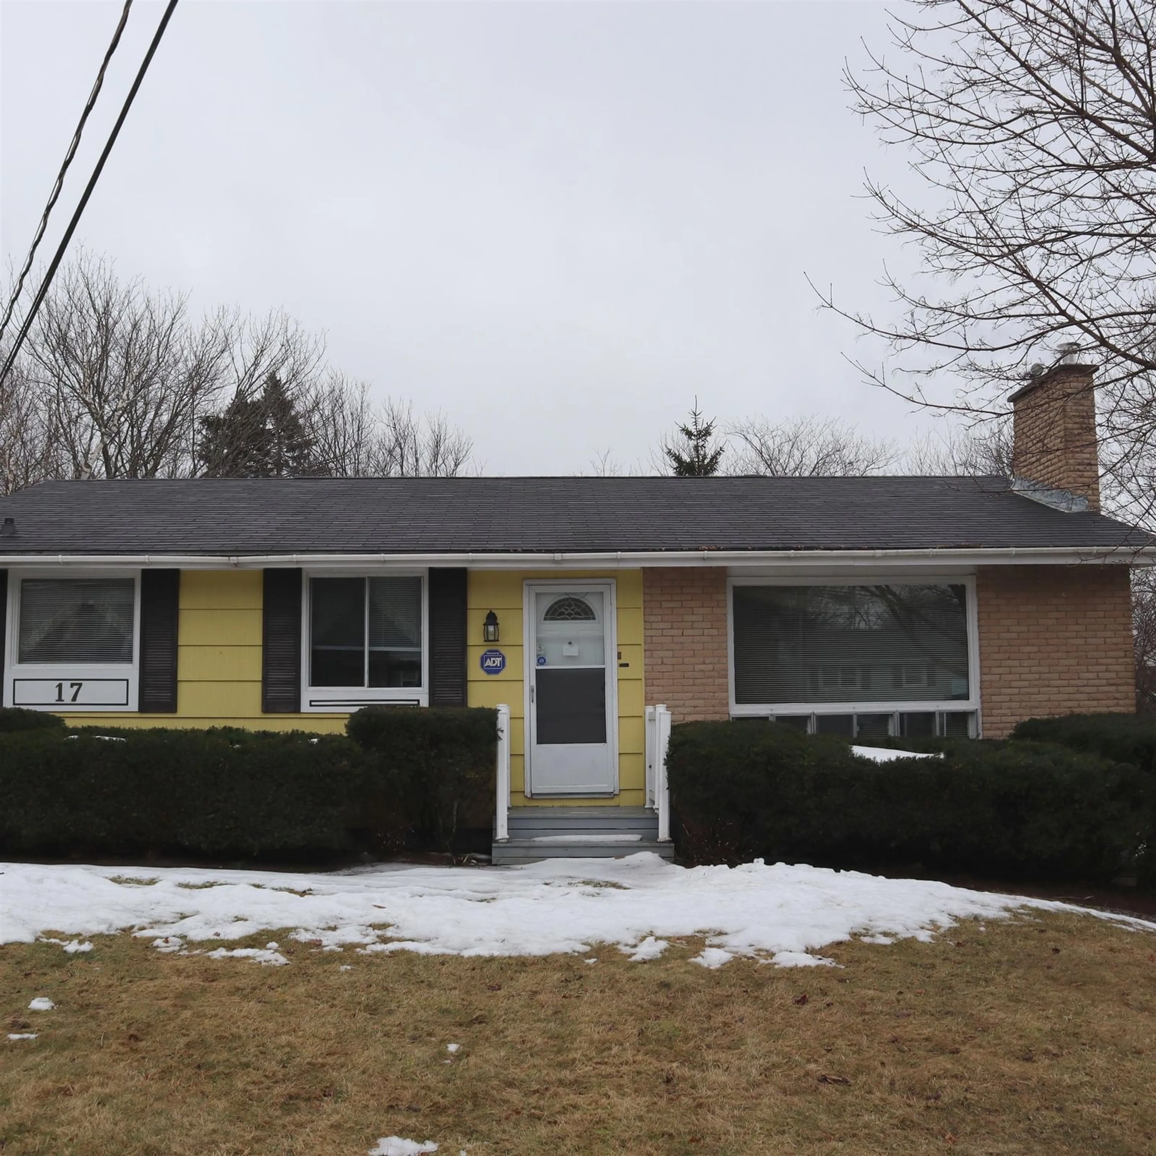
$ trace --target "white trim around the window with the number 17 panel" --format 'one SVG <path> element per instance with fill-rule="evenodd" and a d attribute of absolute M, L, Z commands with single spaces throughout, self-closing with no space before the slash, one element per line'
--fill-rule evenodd
<path fill-rule="evenodd" d="M 20 590 L 25 579 L 36 578 L 132 578 L 133 579 L 133 658 L 131 662 L 20 662 Z M 50 711 L 57 714 L 104 714 L 108 712 L 136 712 L 139 706 L 140 684 L 140 645 L 141 645 L 141 572 L 124 566 L 97 569 L 83 568 L 61 571 L 60 566 L 12 569 L 8 571 L 8 606 L 7 630 L 3 639 L 3 705 L 22 706 L 32 711 Z M 17 694 L 17 682 L 37 680 L 49 683 L 64 683 L 64 702 L 27 702 Z M 106 681 L 116 687 L 106 688 L 109 703 L 73 703 L 69 701 L 75 683 Z M 124 702 L 119 702 L 120 687 L 124 683 Z M 81 694 L 83 688 L 76 690 Z"/>

